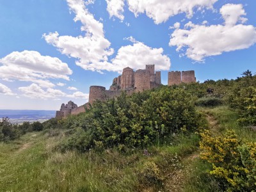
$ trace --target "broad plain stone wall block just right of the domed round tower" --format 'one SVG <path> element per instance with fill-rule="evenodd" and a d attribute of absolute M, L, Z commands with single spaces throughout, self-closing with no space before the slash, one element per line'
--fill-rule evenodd
<path fill-rule="evenodd" d="M 134 87 L 136 92 L 150 90 L 150 72 L 148 70 L 136 70 L 134 74 Z"/>

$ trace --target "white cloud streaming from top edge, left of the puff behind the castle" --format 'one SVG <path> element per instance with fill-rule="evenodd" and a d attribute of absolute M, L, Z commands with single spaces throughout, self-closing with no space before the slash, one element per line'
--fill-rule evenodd
<path fill-rule="evenodd" d="M 85 70 L 106 70 L 108 56 L 113 54 L 110 42 L 104 37 L 103 24 L 88 12 L 83 0 L 67 0 L 70 10 L 76 14 L 74 21 L 80 20 L 84 36 L 60 36 L 58 32 L 44 34 L 48 44 L 54 45 L 62 54 L 76 58 L 76 64 Z"/>

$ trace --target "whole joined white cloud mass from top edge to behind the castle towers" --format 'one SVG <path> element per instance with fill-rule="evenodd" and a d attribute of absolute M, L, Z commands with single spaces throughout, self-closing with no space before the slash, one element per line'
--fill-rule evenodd
<path fill-rule="evenodd" d="M 60 36 L 58 32 L 44 34 L 45 41 L 54 45 L 62 54 L 76 58 L 76 65 L 84 70 L 102 73 L 102 70 L 122 72 L 124 67 L 141 68 L 147 63 L 155 63 L 156 69 L 168 70 L 170 58 L 163 55 L 162 48 L 151 48 L 134 38 L 129 37 L 134 44 L 121 47 L 116 57 L 109 61 L 113 54 L 110 42 L 104 37 L 103 24 L 94 19 L 88 12 L 83 0 L 68 0 L 68 6 L 75 14 L 75 21 L 82 22 L 82 31 L 85 36 Z"/>

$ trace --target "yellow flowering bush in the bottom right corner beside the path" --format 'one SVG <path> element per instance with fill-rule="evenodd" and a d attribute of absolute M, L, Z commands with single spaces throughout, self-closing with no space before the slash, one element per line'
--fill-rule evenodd
<path fill-rule="evenodd" d="M 234 131 L 213 137 L 202 132 L 200 157 L 212 163 L 209 172 L 227 191 L 256 190 L 256 143 L 241 143 Z"/>

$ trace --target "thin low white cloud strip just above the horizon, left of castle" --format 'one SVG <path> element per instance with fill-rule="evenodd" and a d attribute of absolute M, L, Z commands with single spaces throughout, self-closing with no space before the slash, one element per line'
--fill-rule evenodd
<path fill-rule="evenodd" d="M 0 84 L 1 91 L 1 84 Z M 29 97 L 31 99 L 59 99 L 59 97 L 70 97 L 70 98 L 84 98 L 88 99 L 89 94 L 82 92 L 75 92 L 72 95 L 61 92 L 52 88 L 42 88 L 38 84 L 32 83 L 29 86 L 19 87 L 19 91 L 22 92 L 22 96 Z"/>

